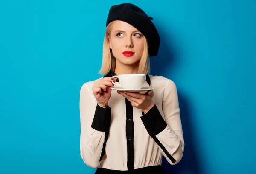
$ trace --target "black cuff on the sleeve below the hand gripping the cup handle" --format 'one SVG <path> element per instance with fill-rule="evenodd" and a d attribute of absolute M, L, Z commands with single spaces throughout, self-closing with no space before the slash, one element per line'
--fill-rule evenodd
<path fill-rule="evenodd" d="M 110 119 L 111 108 L 107 106 L 105 109 L 97 104 L 91 127 L 97 131 L 107 132 L 110 126 Z"/>

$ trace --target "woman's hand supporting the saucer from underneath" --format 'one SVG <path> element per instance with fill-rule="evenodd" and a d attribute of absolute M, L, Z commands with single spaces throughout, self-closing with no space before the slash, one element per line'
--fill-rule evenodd
<path fill-rule="evenodd" d="M 146 92 L 145 94 L 122 91 L 117 91 L 117 93 L 127 98 L 133 107 L 142 109 L 144 113 L 147 113 L 152 107 L 154 107 L 154 101 L 152 100 L 154 92 L 152 90 Z"/>

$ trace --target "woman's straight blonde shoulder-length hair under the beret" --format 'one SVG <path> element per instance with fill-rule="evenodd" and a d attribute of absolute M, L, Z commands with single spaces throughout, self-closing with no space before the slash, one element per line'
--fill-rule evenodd
<path fill-rule="evenodd" d="M 115 21 L 111 22 L 107 28 L 103 41 L 103 56 L 102 56 L 102 66 L 99 74 L 107 74 L 110 70 L 115 71 L 116 67 L 116 58 L 113 56 L 112 51 L 109 48 L 108 35 L 111 31 L 111 26 Z M 144 38 L 144 48 L 143 53 L 138 65 L 138 73 L 140 74 L 148 74 L 150 71 L 150 57 L 148 53 L 148 42 L 145 37 Z"/>

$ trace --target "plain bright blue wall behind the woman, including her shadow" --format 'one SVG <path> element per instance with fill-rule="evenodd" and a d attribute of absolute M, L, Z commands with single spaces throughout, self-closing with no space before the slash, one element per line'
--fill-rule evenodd
<path fill-rule="evenodd" d="M 178 88 L 183 159 L 169 174 L 256 173 L 256 1 L 0 2 L 0 174 L 93 174 L 79 92 L 95 80 L 109 8 L 134 3 L 161 37 L 151 74 Z"/>

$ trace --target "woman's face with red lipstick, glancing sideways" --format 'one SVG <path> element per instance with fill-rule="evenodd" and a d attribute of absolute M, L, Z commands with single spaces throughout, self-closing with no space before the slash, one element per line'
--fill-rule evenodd
<path fill-rule="evenodd" d="M 108 39 L 109 47 L 119 63 L 133 65 L 141 59 L 145 38 L 132 25 L 115 21 L 111 26 Z"/>

